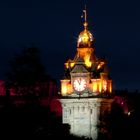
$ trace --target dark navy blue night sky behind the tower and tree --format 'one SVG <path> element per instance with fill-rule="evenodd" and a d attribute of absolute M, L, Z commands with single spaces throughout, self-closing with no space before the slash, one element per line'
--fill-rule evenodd
<path fill-rule="evenodd" d="M 22 46 L 36 44 L 47 72 L 59 83 L 73 59 L 87 5 L 95 54 L 108 60 L 114 89 L 140 90 L 140 2 L 138 0 L 1 0 L 0 79 Z"/>

